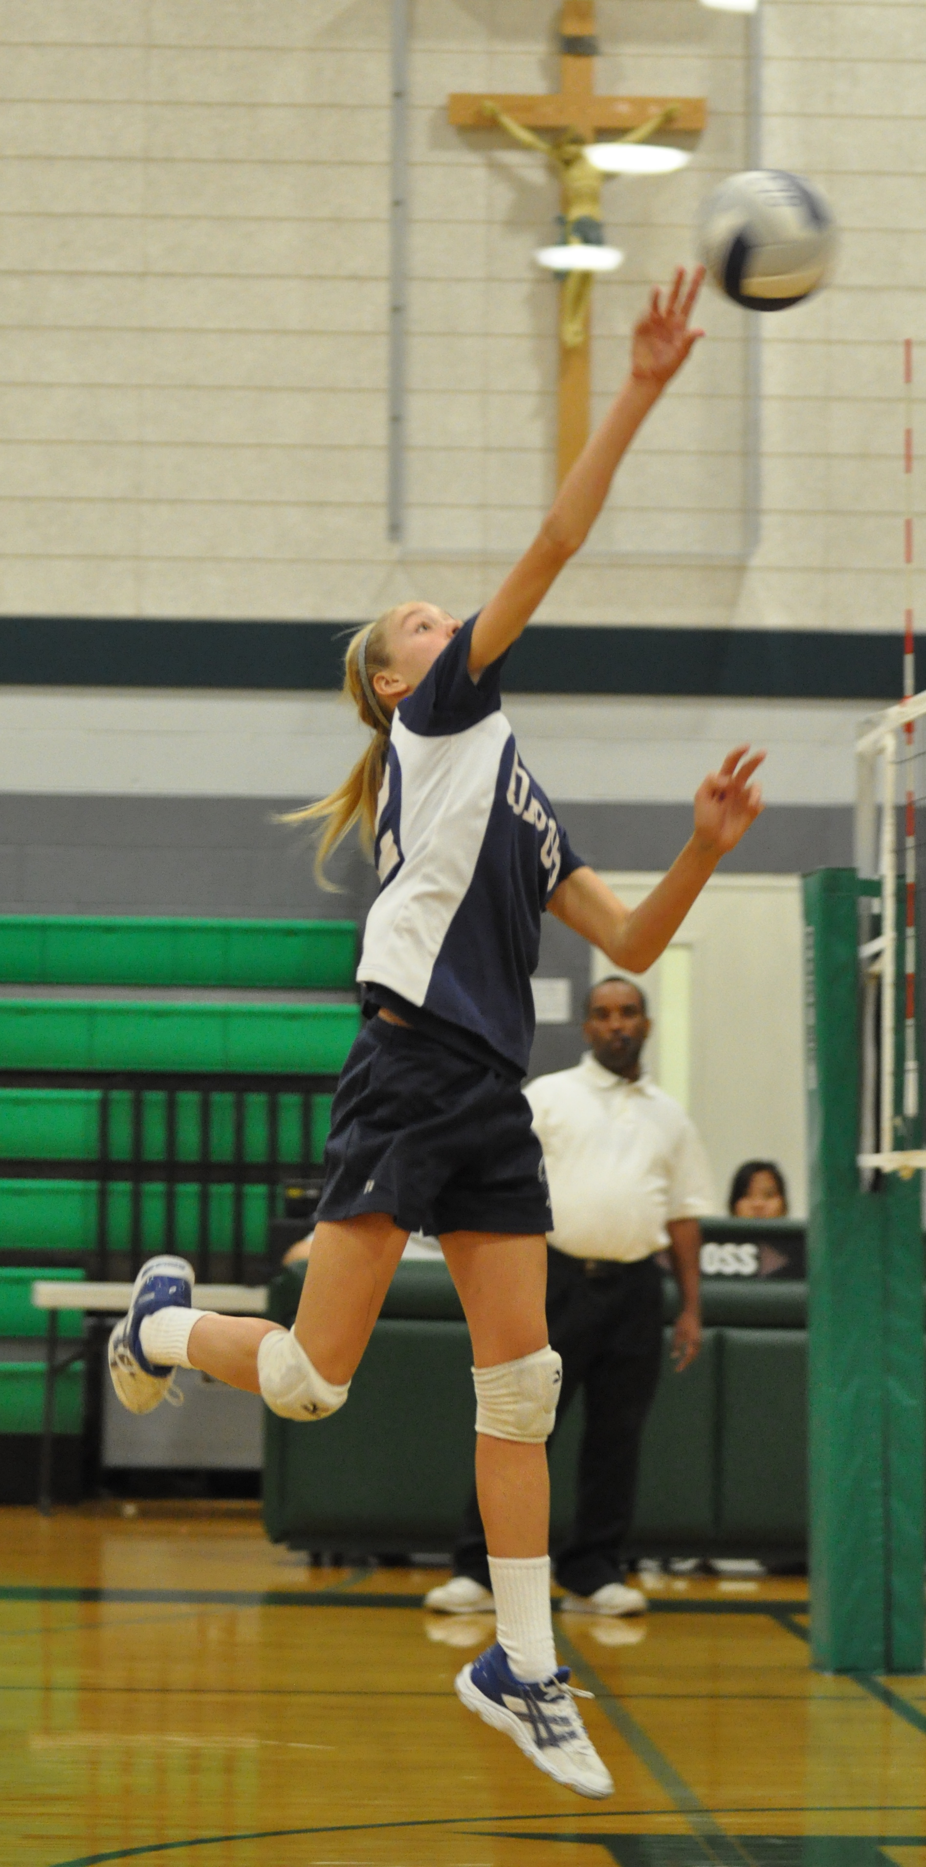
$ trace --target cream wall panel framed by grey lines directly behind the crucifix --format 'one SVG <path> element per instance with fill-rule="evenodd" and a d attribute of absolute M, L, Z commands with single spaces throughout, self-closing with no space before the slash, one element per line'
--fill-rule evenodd
<path fill-rule="evenodd" d="M 556 237 L 560 187 L 540 155 L 504 133 L 450 129 L 446 95 L 558 90 L 556 19 L 551 4 L 517 0 L 414 9 L 409 556 L 420 547 L 448 569 L 456 549 L 487 560 L 517 551 L 554 493 L 558 288 L 534 252 Z M 698 202 L 745 166 L 747 28 L 694 0 L 633 9 L 599 0 L 597 22 L 601 93 L 709 97 L 689 168 L 605 183 L 605 228 L 625 261 L 594 286 L 592 377 L 603 414 L 648 282 L 689 261 Z M 747 321 L 717 295 L 706 316 L 713 342 L 646 424 L 592 554 L 743 551 Z M 622 601 L 592 558 L 568 583 L 545 614 L 560 616 L 566 601 L 568 614 L 601 620 Z"/>

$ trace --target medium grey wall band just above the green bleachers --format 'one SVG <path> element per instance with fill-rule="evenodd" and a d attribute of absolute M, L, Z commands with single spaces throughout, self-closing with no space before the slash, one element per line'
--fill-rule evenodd
<path fill-rule="evenodd" d="M 0 797 L 0 913 L 362 919 L 375 892 L 370 863 L 351 840 L 330 864 L 344 892 L 319 889 L 308 833 L 276 821 L 293 803 L 7 792 Z M 594 868 L 666 868 L 691 833 L 691 805 L 568 803 L 556 810 Z M 849 808 L 777 805 L 724 868 L 793 874 L 849 861 Z"/>

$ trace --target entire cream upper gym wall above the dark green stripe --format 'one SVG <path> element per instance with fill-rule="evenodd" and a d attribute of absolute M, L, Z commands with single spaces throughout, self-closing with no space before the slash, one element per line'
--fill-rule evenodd
<path fill-rule="evenodd" d="M 762 19 L 765 161 L 812 174 L 844 239 L 835 286 L 762 325 L 760 551 L 749 571 L 590 556 L 553 620 L 900 624 L 922 7 L 762 0 Z M 554 306 L 530 250 L 556 190 L 530 157 L 450 131 L 442 99 L 489 77 L 549 88 L 554 4 L 428 0 L 413 24 L 409 480 L 418 517 L 433 502 L 459 526 L 472 498 L 530 508 L 551 484 Z M 612 185 L 629 258 L 599 291 L 601 392 L 646 276 L 691 256 L 698 189 L 741 161 L 743 91 L 741 22 L 694 0 L 599 0 L 599 26 L 601 86 L 706 84 L 713 112 L 678 183 Z M 0 0 L 0 611 L 355 618 L 418 588 L 459 612 L 485 596 L 495 560 L 386 543 L 386 220 L 385 0 Z M 745 327 L 715 297 L 704 316 L 713 338 Z M 713 357 L 618 489 L 646 549 L 659 510 L 698 476 L 721 485 L 736 454 Z M 472 478 L 476 428 L 500 480 Z"/>

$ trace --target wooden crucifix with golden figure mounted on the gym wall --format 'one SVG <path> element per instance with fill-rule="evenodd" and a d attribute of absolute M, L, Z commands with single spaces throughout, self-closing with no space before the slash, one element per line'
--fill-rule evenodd
<path fill-rule="evenodd" d="M 566 243 L 599 245 L 603 175 L 584 157 L 584 146 L 599 133 L 612 140 L 642 142 L 665 123 L 674 131 L 702 131 L 708 119 L 702 97 L 599 97 L 594 88 L 596 4 L 564 0 L 560 17 L 558 93 L 519 97 L 457 91 L 448 99 L 450 123 L 457 129 L 487 129 L 497 121 L 526 147 L 540 147 L 556 164 L 562 187 Z M 553 138 L 538 134 L 553 131 Z M 590 274 L 569 273 L 562 284 L 560 317 L 560 435 L 558 478 L 588 441 L 590 426 Z"/>

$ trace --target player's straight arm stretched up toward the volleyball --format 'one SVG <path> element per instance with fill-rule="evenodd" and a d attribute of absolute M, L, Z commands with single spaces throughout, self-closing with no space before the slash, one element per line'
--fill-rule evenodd
<path fill-rule="evenodd" d="M 534 543 L 480 612 L 469 657 L 472 676 L 517 642 L 564 564 L 584 545 L 637 429 L 704 336 L 689 329 L 702 278 L 698 267 L 687 286 L 680 267 L 665 304 L 653 291 L 633 332 L 631 373 L 620 396 L 566 474 Z"/>

